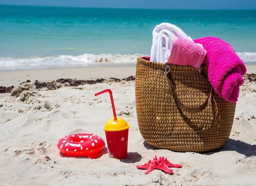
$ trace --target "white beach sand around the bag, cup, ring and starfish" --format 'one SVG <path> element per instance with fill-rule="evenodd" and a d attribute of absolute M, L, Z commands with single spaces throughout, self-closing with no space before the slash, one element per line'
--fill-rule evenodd
<path fill-rule="evenodd" d="M 0 85 L 18 85 L 23 80 L 56 81 L 58 78 L 123 78 L 135 75 L 135 67 L 63 69 L 48 71 L 0 72 Z M 100 70 L 97 69 L 99 72 Z M 44 72 L 44 74 L 42 74 Z M 88 75 L 86 73 L 92 72 Z M 20 74 L 21 73 L 21 74 Z M 110 74 L 113 73 L 113 74 Z M 116 74 L 115 74 L 116 73 Z M 21 85 L 23 86 L 23 85 Z M 27 85 L 28 86 L 28 85 Z M 62 157 L 59 139 L 72 133 L 93 133 L 106 141 L 103 125 L 112 117 L 110 88 L 118 117 L 130 124 L 128 158 L 98 159 Z M 23 101 L 20 99 L 23 96 Z M 0 185 L 218 185 L 253 186 L 256 183 L 256 83 L 245 81 L 240 89 L 233 128 L 227 144 L 206 153 L 172 152 L 152 148 L 138 129 L 135 82 L 112 80 L 94 85 L 37 90 L 33 86 L 20 96 L 0 94 Z M 173 175 L 154 170 L 148 175 L 136 168 L 153 157 L 167 157 Z"/>

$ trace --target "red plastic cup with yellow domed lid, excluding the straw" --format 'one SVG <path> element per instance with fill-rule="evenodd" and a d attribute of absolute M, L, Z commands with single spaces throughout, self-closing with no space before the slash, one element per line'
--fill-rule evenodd
<path fill-rule="evenodd" d="M 130 125 L 122 118 L 115 119 L 109 119 L 103 127 L 108 144 L 108 155 L 111 158 L 126 159 Z"/>

